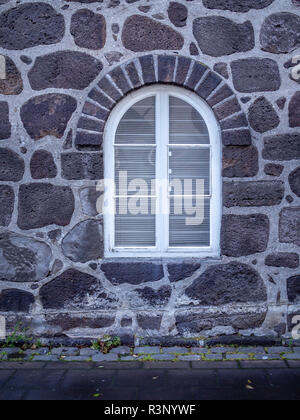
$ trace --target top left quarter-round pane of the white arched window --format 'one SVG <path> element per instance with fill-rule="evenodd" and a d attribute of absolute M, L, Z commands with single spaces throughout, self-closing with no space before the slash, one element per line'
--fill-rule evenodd
<path fill-rule="evenodd" d="M 116 144 L 155 144 L 155 96 L 138 102 L 126 112 L 117 133 Z"/>

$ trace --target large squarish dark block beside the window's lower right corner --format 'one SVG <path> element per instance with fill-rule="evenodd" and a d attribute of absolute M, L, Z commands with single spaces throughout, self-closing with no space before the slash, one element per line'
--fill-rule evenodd
<path fill-rule="evenodd" d="M 264 252 L 269 242 L 270 222 L 265 214 L 223 216 L 221 248 L 228 257 Z"/>

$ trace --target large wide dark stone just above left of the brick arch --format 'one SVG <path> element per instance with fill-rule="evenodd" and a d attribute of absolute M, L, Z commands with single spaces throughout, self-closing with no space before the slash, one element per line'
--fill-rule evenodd
<path fill-rule="evenodd" d="M 28 73 L 34 90 L 85 89 L 102 70 L 96 58 L 78 51 L 57 51 L 38 57 Z"/>

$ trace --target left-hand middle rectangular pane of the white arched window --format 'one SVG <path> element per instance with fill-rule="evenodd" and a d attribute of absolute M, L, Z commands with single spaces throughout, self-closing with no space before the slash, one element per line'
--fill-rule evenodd
<path fill-rule="evenodd" d="M 155 147 L 115 148 L 116 195 L 152 195 L 151 187 L 154 182 L 151 181 L 155 180 L 155 172 Z"/>

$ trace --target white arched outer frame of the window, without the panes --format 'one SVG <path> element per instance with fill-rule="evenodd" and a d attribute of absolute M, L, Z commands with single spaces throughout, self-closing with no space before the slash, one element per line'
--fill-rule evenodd
<path fill-rule="evenodd" d="M 210 207 L 210 246 L 209 247 L 189 247 L 178 248 L 132 248 L 124 247 L 118 248 L 114 245 L 115 238 L 115 219 L 114 213 L 111 211 L 114 208 L 114 191 L 111 188 L 115 178 L 115 136 L 120 121 L 125 113 L 137 102 L 149 98 L 154 95 L 159 95 L 160 100 L 156 101 L 156 116 L 158 117 L 156 124 L 156 136 L 158 139 L 168 138 L 169 114 L 163 115 L 161 109 L 168 109 L 166 106 L 167 95 L 175 96 L 183 101 L 186 101 L 193 106 L 204 119 L 210 137 L 211 148 L 211 207 Z M 168 121 L 166 124 L 165 121 Z M 159 144 L 158 147 L 164 147 L 169 142 Z M 209 105 L 201 99 L 197 94 L 185 88 L 171 86 L 171 85 L 151 85 L 143 87 L 124 97 L 112 110 L 104 131 L 104 249 L 106 258 L 218 258 L 220 256 L 220 232 L 221 232 L 221 218 L 222 218 L 222 142 L 221 131 L 218 121 L 209 107 Z M 207 145 L 206 145 L 207 147 Z M 167 153 L 166 153 L 167 156 Z M 165 170 L 168 171 L 168 162 L 166 160 Z M 167 195 L 162 200 L 168 200 Z M 165 203 L 164 203 L 165 205 Z M 156 236 L 168 238 L 168 230 L 166 226 L 162 226 L 161 216 L 157 215 Z M 167 224 L 168 225 L 168 224 Z M 161 233 L 163 232 L 163 233 Z M 159 238 L 157 238 L 159 239 Z M 164 242 L 164 241 L 159 241 Z"/>

